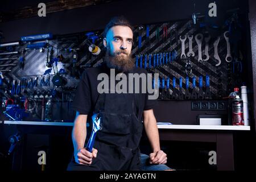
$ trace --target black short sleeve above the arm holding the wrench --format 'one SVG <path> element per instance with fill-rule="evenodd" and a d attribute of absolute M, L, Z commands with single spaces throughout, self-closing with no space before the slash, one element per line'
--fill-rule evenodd
<path fill-rule="evenodd" d="M 77 86 L 76 96 L 72 103 L 72 109 L 79 111 L 80 114 L 89 114 L 92 107 L 90 96 L 90 82 L 86 71 L 84 71 L 79 85 Z"/>

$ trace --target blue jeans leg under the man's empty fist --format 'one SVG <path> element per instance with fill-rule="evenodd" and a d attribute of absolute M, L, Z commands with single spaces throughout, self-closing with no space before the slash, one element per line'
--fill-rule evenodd
<path fill-rule="evenodd" d="M 149 156 L 146 154 L 141 154 L 141 166 L 143 171 L 164 171 L 167 169 L 172 169 L 166 164 L 150 164 L 148 162 Z"/>

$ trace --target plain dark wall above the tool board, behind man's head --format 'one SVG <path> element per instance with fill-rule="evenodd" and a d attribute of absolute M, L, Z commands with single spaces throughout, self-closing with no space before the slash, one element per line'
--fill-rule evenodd
<path fill-rule="evenodd" d="M 203 15 L 208 9 L 210 2 L 212 1 L 116 1 L 47 14 L 43 18 L 36 16 L 0 23 L 0 30 L 3 31 L 3 35 L 5 36 L 2 42 L 15 42 L 20 39 L 20 36 L 42 34 L 44 32 L 71 34 L 82 31 L 100 30 L 105 27 L 105 24 L 108 23 L 110 18 L 117 15 L 125 15 L 133 25 L 191 19 L 191 14 L 194 12 L 193 3 L 196 4 L 196 13 Z M 216 2 L 218 2 L 218 7 L 225 10 L 235 7 L 245 9 L 246 7 L 245 1 L 228 0 Z M 13 3 L 15 2 L 10 1 L 5 6 L 12 6 Z M 28 3 L 32 2 L 28 1 Z M 23 4 L 26 5 L 26 1 Z M 32 5 L 35 6 L 35 3 L 32 3 Z"/>

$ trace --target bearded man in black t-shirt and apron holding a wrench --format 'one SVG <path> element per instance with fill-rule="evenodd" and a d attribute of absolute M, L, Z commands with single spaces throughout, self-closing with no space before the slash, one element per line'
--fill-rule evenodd
<path fill-rule="evenodd" d="M 134 67 L 131 57 L 133 27 L 122 16 L 112 18 L 106 25 L 103 44 L 106 48 L 104 62 L 84 71 L 73 101 L 76 110 L 72 131 L 74 155 L 68 170 L 141 170 L 142 160 L 146 158 L 150 164 L 167 163 L 167 155 L 160 150 L 153 112 L 156 101 L 148 100 L 148 93 L 98 93 L 97 90 L 98 75 L 110 75 L 110 69 L 116 74 L 147 74 L 145 69 Z M 92 152 L 89 152 L 85 148 L 86 136 L 89 136 L 86 122 L 91 122 L 93 113 L 100 113 L 102 129 L 97 131 Z M 143 126 L 152 152 L 142 159 L 139 142 Z"/>

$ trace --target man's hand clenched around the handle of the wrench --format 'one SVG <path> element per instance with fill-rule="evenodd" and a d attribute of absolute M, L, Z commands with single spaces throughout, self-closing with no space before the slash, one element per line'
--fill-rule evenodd
<path fill-rule="evenodd" d="M 98 150 L 93 148 L 92 152 L 86 150 L 86 148 L 80 148 L 75 154 L 75 161 L 78 164 L 90 165 L 92 164 L 92 159 L 97 157 Z"/>

